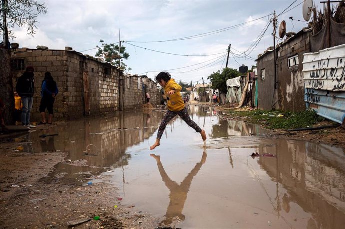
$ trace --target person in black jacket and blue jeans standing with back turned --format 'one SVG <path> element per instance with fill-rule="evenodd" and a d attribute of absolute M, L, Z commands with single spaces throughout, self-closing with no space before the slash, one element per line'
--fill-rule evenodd
<path fill-rule="evenodd" d="M 34 94 L 34 69 L 32 66 L 26 67 L 25 72 L 19 77 L 16 84 L 16 91 L 21 97 L 23 111 L 21 113 L 21 122 L 23 126 L 29 128 L 36 127 L 30 124 L 30 114 L 33 105 Z"/>

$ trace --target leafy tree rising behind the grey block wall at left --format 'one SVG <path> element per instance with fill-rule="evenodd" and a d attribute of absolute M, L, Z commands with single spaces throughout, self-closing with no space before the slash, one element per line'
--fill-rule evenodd
<path fill-rule="evenodd" d="M 119 45 L 115 45 L 115 44 L 107 44 L 107 43 L 104 43 L 104 40 L 100 39 L 99 41 L 102 46 L 97 46 L 99 47 L 98 48 L 98 51 L 96 52 L 96 57 L 100 58 L 102 61 L 105 61 L 107 63 L 110 63 L 114 66 L 119 66 L 120 65 L 120 55 L 119 55 L 119 50 L 120 50 L 120 47 Z M 121 54 L 121 59 L 126 59 L 128 60 L 129 58 L 129 54 L 126 53 L 126 47 L 124 46 L 121 46 L 121 51 L 120 51 L 120 54 Z M 125 63 L 123 63 L 121 61 L 121 68 L 127 68 L 127 65 Z"/>

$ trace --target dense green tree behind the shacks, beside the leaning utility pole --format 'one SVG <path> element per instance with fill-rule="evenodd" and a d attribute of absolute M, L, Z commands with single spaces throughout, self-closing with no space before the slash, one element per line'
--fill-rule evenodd
<path fill-rule="evenodd" d="M 219 89 L 220 93 L 226 93 L 226 81 L 228 79 L 232 79 L 240 75 L 241 73 L 238 72 L 236 69 L 223 68 L 222 72 L 220 72 L 220 70 L 218 70 L 217 72 L 213 72 L 211 75 L 207 77 L 207 79 L 211 80 L 212 89 Z"/>

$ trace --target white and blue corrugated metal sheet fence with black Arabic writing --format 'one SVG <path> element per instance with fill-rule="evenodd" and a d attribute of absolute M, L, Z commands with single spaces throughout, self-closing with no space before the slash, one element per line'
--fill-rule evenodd
<path fill-rule="evenodd" d="M 342 123 L 345 117 L 345 44 L 305 53 L 303 79 L 306 108 Z"/>

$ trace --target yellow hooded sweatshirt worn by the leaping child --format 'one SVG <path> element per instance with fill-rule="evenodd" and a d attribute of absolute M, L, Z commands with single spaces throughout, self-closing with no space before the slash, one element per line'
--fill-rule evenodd
<path fill-rule="evenodd" d="M 172 89 L 175 89 L 176 92 L 173 95 L 168 95 L 167 93 Z M 180 93 L 180 91 L 182 91 L 182 87 L 177 84 L 174 79 L 170 79 L 168 82 L 166 82 L 164 91 L 166 97 L 169 98 L 167 101 L 167 109 L 174 112 L 184 109 L 185 105 Z"/>

